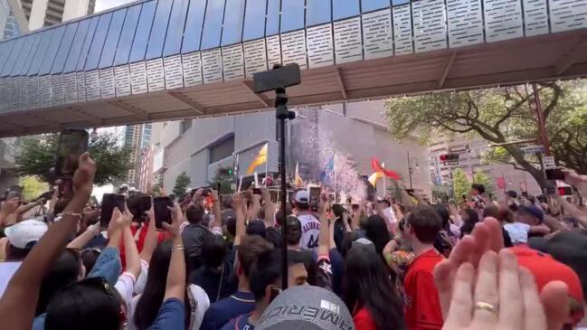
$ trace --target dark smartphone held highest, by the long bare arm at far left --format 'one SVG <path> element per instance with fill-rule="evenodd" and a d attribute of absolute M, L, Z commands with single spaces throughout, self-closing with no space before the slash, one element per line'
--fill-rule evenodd
<path fill-rule="evenodd" d="M 64 129 L 59 136 L 55 174 L 58 178 L 73 177 L 81 154 L 88 151 L 88 132 L 85 129 Z"/>

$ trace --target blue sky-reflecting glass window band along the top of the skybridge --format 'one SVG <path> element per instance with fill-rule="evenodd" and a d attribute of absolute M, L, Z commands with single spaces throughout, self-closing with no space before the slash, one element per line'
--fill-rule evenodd
<path fill-rule="evenodd" d="M 146 0 L 32 33 L 18 44 L 0 42 L 0 63 L 31 59 L 29 75 L 93 71 L 258 40 L 406 1 Z M 0 38 L 18 33 L 8 0 L 0 0 L 0 27 Z"/>

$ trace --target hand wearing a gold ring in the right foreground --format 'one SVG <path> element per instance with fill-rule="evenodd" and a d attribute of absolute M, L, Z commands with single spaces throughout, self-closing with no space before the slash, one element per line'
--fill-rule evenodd
<path fill-rule="evenodd" d="M 445 330 L 558 330 L 563 324 L 566 285 L 551 282 L 539 295 L 533 275 L 508 250 L 485 252 L 477 272 L 461 264 L 454 282 Z"/>

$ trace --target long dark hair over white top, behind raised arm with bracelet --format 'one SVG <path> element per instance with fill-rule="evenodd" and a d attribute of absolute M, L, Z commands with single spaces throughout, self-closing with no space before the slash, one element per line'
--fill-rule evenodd
<path fill-rule="evenodd" d="M 163 303 L 166 294 L 167 271 L 171 262 L 172 243 L 166 240 L 161 243 L 153 252 L 147 275 L 147 284 L 143 294 L 138 299 L 135 308 L 135 316 L 132 322 L 135 323 L 138 330 L 149 328 L 155 322 L 159 313 L 159 307 Z M 185 299 L 186 320 L 190 319 L 191 306 L 189 299 Z M 186 323 L 186 326 L 189 322 Z"/>

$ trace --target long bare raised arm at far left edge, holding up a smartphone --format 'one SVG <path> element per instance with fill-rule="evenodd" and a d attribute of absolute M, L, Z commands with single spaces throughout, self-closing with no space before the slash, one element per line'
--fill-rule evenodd
<path fill-rule="evenodd" d="M 0 299 L 0 319 L 6 329 L 30 329 L 43 277 L 59 258 L 81 219 L 84 205 L 90 198 L 96 165 L 85 153 L 73 175 L 74 193 L 65 208 L 62 221 L 52 225 L 16 270 Z"/>

